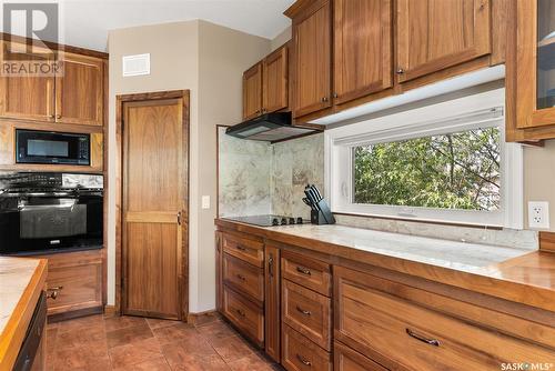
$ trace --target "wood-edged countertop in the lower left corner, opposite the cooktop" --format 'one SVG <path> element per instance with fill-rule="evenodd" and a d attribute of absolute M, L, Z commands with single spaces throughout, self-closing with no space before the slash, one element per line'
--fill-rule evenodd
<path fill-rule="evenodd" d="M 11 369 L 46 275 L 43 259 L 0 257 L 0 369 Z"/>

